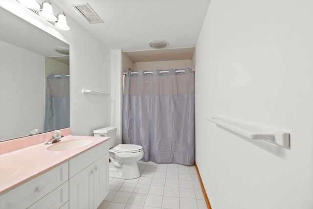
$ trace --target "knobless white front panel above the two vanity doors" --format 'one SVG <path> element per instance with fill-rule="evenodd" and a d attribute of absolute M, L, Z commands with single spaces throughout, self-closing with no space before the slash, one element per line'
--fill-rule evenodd
<path fill-rule="evenodd" d="M 110 139 L 109 139 L 110 140 Z M 69 160 L 69 178 L 73 177 L 79 171 L 86 168 L 89 164 L 95 162 L 101 156 L 109 152 L 108 141 L 84 152 L 83 154 Z"/>

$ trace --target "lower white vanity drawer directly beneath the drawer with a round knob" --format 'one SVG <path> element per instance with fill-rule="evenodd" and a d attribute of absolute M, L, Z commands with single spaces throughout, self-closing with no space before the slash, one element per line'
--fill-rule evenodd
<path fill-rule="evenodd" d="M 68 201 L 68 181 L 45 195 L 28 209 L 59 209 Z"/>

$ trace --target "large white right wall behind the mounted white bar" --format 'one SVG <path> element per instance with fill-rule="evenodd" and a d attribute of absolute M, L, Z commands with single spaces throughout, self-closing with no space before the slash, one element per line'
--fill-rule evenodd
<path fill-rule="evenodd" d="M 196 51 L 196 162 L 213 209 L 313 208 L 313 1 L 211 0 Z M 291 134 L 252 143 L 226 116 Z"/>

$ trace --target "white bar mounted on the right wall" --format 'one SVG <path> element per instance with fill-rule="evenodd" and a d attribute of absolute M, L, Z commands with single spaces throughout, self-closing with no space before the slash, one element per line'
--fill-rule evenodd
<path fill-rule="evenodd" d="M 239 134 L 252 140 L 265 140 L 270 143 L 288 148 L 290 147 L 289 133 L 272 130 L 254 124 L 248 124 L 225 117 L 210 117 L 206 120 L 225 128 L 227 131 Z"/>

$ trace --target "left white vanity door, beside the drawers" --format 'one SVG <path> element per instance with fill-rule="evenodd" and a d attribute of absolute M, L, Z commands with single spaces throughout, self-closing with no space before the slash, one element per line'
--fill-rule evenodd
<path fill-rule="evenodd" d="M 93 209 L 93 163 L 69 179 L 69 208 Z"/>

